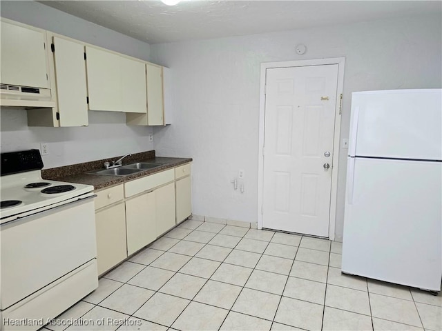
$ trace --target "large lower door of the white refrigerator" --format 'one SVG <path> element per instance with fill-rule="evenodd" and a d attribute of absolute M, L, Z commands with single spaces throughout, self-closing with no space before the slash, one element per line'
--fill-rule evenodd
<path fill-rule="evenodd" d="M 439 290 L 442 164 L 349 158 L 342 270 Z"/>

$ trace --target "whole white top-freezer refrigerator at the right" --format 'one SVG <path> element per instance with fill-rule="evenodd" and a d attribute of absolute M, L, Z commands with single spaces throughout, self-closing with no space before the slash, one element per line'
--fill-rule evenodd
<path fill-rule="evenodd" d="M 342 272 L 440 291 L 442 90 L 354 92 Z"/>

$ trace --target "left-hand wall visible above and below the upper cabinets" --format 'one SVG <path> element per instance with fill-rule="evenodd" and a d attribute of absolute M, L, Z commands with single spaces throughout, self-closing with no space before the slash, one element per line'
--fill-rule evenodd
<path fill-rule="evenodd" d="M 1 1 L 1 17 L 50 30 L 67 37 L 149 59 L 149 45 L 97 26 L 35 1 Z M 31 128 L 25 110 L 1 108 L 1 152 L 39 148 L 48 143 L 44 168 L 93 161 L 153 150 L 151 127 L 126 126 L 126 116 L 114 112 L 89 112 L 89 126 L 82 128 Z"/>

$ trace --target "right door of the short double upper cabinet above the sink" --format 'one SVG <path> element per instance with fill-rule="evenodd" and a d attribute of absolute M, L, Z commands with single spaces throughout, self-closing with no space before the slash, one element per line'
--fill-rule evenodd
<path fill-rule="evenodd" d="M 120 65 L 124 112 L 146 114 L 146 67 L 144 63 L 121 57 Z"/>

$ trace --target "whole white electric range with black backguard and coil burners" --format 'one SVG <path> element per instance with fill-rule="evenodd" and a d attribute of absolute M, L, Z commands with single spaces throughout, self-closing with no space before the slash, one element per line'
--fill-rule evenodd
<path fill-rule="evenodd" d="M 1 153 L 1 330 L 38 330 L 98 286 L 93 186 L 41 168 L 39 150 Z"/>

